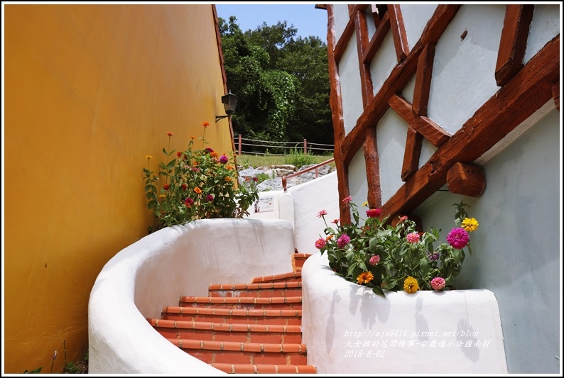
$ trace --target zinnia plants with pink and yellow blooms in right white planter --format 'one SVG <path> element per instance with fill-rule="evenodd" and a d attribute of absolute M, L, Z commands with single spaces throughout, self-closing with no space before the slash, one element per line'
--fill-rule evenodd
<path fill-rule="evenodd" d="M 465 247 L 470 248 L 467 232 L 478 226 L 474 218 L 467 218 L 463 201 L 457 206 L 457 226 L 462 222 L 462 233 L 467 238 L 466 243 L 441 243 L 437 248 L 435 242 L 439 240 L 439 230 L 430 228 L 425 233 L 416 231 L 416 223 L 406 216 L 398 220 L 396 226 L 387 223 L 388 218 L 379 218 L 379 209 L 367 210 L 367 220 L 359 216 L 357 206 L 347 197 L 343 202 L 350 206 L 352 222 L 340 224 L 335 221 L 335 228 L 327 226 L 325 211 L 319 216 L 325 221 L 325 238 L 315 242 L 323 254 L 327 252 L 327 259 L 335 274 L 350 282 L 372 287 L 376 294 L 384 296 L 382 289 L 398 291 L 404 288 L 406 279 L 413 277 L 417 286 L 413 291 L 443 290 L 452 288 L 453 279 L 460 274 L 465 260 Z M 462 212 L 461 212 L 462 211 Z M 458 218 L 465 214 L 464 220 Z M 455 229 L 451 231 L 449 240 Z M 462 238 L 462 239 L 464 239 Z M 438 277 L 438 278 L 437 278 Z M 438 282 L 433 282 L 438 279 Z M 406 291 L 408 291 L 406 289 Z M 411 291 L 409 291 L 411 292 Z"/>

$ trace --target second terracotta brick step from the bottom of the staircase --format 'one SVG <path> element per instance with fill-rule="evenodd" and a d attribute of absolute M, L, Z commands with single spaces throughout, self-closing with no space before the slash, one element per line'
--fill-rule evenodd
<path fill-rule="evenodd" d="M 208 364 L 308 365 L 305 344 L 167 339 Z"/>

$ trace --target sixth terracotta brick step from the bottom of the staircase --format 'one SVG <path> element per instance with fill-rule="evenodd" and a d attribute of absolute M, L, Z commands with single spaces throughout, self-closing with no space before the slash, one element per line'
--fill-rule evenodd
<path fill-rule="evenodd" d="M 212 284 L 208 287 L 210 296 L 301 296 L 301 282 L 261 282 L 258 284 Z"/>

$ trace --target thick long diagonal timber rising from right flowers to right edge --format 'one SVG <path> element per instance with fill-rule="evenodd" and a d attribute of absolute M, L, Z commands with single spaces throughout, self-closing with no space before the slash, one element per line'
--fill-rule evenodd
<path fill-rule="evenodd" d="M 553 99 L 553 85 L 559 78 L 560 35 L 557 35 L 386 201 L 382 216 L 410 213 L 416 209 L 445 185 L 452 165 L 474 162 Z"/>

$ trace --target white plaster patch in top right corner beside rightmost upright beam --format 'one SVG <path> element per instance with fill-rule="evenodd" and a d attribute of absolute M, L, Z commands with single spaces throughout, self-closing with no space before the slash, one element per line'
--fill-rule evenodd
<path fill-rule="evenodd" d="M 562 30 L 562 4 L 535 4 L 524 62 L 541 50 Z M 561 42 L 560 42 L 561 43 Z"/>

